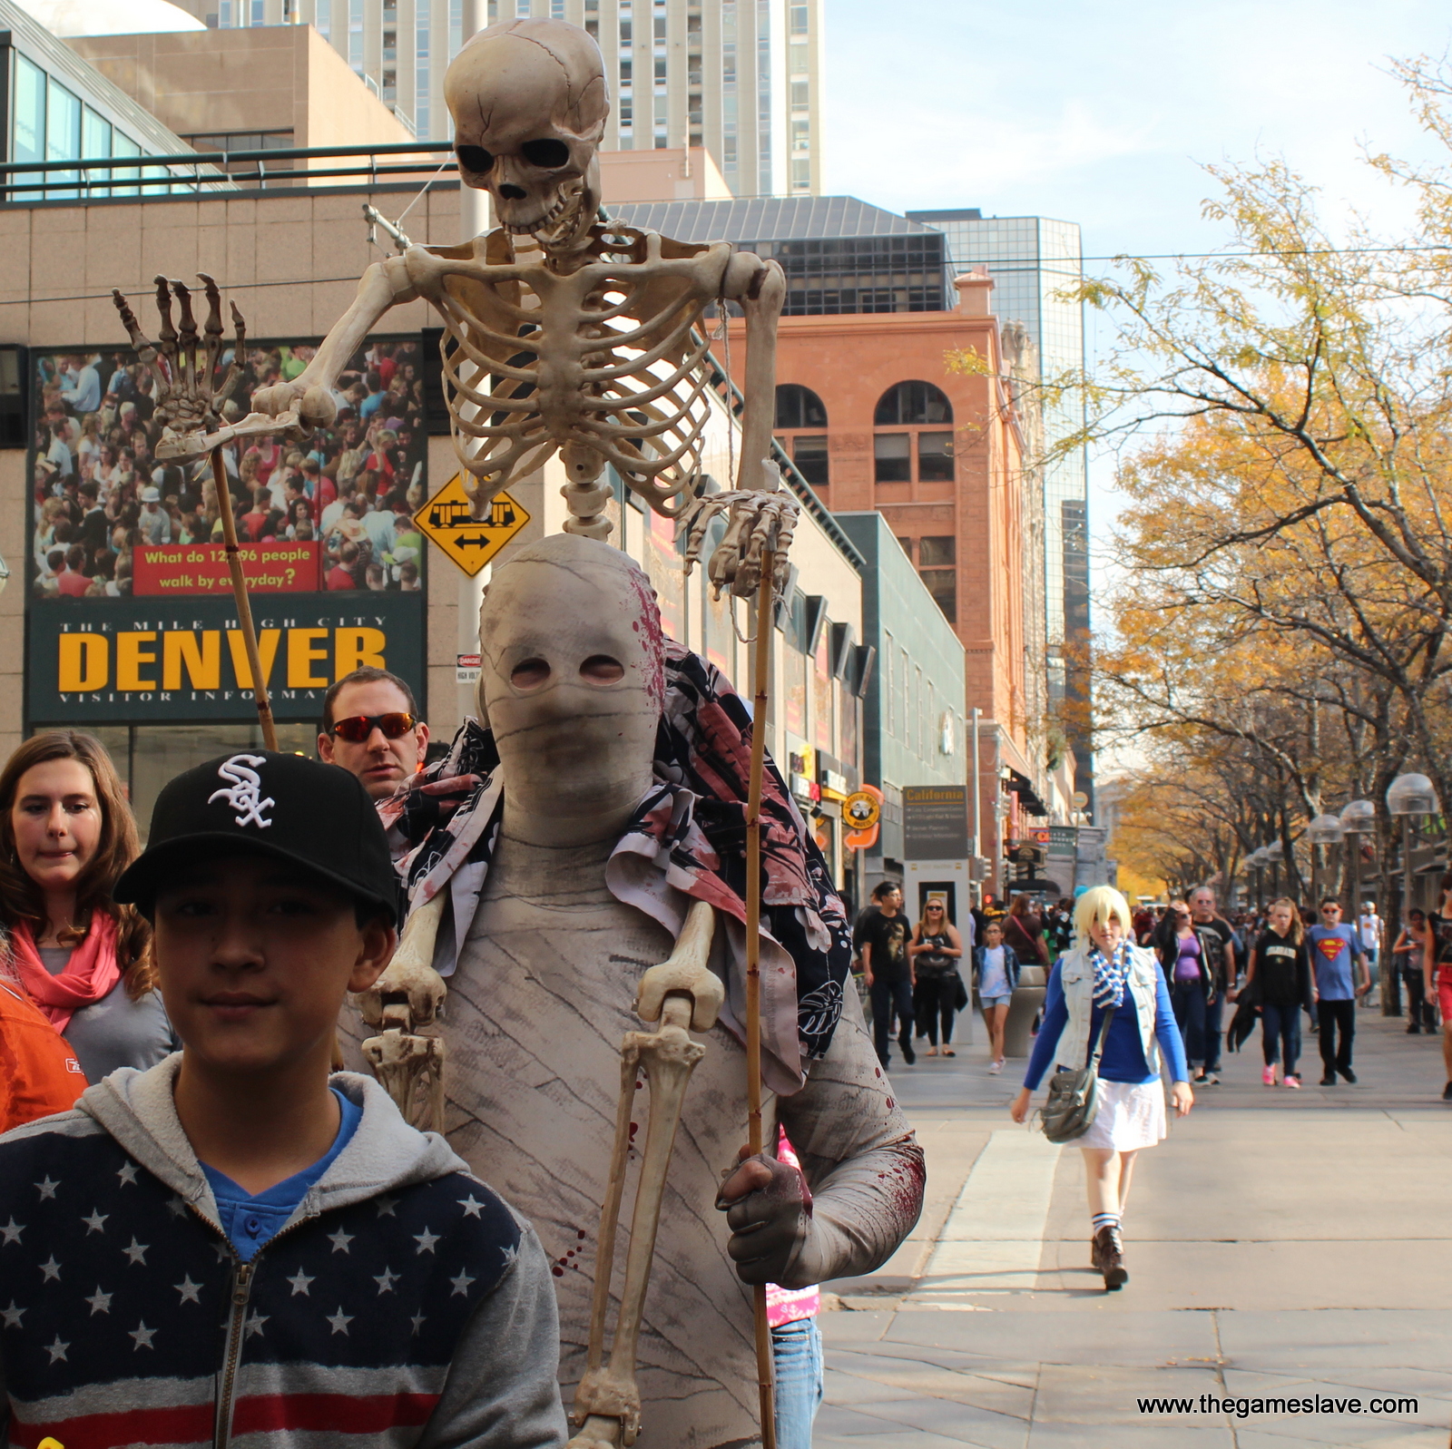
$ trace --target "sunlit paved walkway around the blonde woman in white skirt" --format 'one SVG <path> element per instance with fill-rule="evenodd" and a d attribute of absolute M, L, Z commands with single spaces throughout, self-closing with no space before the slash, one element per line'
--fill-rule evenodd
<path fill-rule="evenodd" d="M 1446 1449 L 1452 1103 L 1437 1038 L 1358 1012 L 1358 1085 L 1317 1086 L 1307 1034 L 1300 1092 L 1260 1085 L 1259 1032 L 1227 1056 L 1224 1085 L 1140 1160 L 1117 1294 L 1089 1269 L 1079 1151 L 1008 1117 L 1024 1063 L 989 1076 L 982 1022 L 958 1050 L 894 1058 L 926 1208 L 878 1273 L 828 1285 L 841 1308 L 822 1315 L 815 1449 Z M 1166 1395 L 1191 1403 L 1140 1413 Z M 1201 1411 L 1202 1395 L 1250 1411 Z M 1255 1411 L 1256 1397 L 1307 1395 L 1340 1403 Z M 1385 1395 L 1416 1407 L 1368 1411 Z"/>

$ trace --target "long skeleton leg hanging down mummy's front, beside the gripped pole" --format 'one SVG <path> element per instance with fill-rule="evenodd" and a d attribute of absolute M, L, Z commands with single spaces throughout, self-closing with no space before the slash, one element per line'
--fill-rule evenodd
<path fill-rule="evenodd" d="M 675 1147 L 681 1105 L 685 1101 L 691 1072 L 706 1056 L 706 1047 L 693 1041 L 687 1028 L 709 1031 L 716 1024 L 725 1000 L 720 980 L 706 964 L 714 931 L 711 907 L 706 902 L 691 906 L 685 929 L 671 958 L 650 967 L 640 979 L 636 1012 L 642 1021 L 659 1021 L 661 1026 L 655 1032 L 627 1032 L 620 1048 L 620 1111 L 616 1118 L 610 1185 L 600 1215 L 590 1359 L 585 1376 L 575 1391 L 575 1423 L 581 1427 L 568 1449 L 621 1449 L 633 1445 L 640 1433 L 640 1391 L 635 1378 L 640 1317 L 650 1281 L 650 1259 L 655 1253 L 665 1176 Z M 630 1114 L 636 1077 L 642 1066 L 650 1082 L 650 1117 L 640 1159 L 635 1214 L 630 1221 L 630 1250 L 626 1254 L 620 1314 L 616 1320 L 610 1363 L 605 1365 L 603 1356 L 611 1265 L 630 1153 Z"/>

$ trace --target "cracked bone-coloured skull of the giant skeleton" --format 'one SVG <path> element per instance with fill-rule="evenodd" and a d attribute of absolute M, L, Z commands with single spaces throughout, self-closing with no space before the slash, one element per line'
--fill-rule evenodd
<path fill-rule="evenodd" d="M 444 75 L 466 186 L 515 235 L 579 242 L 600 206 L 597 150 L 610 113 L 600 46 L 563 20 L 481 30 Z"/>

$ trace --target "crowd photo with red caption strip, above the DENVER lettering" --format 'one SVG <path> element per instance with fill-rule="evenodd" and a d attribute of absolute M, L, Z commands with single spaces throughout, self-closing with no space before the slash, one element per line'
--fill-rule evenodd
<path fill-rule="evenodd" d="M 258 388 L 296 377 L 308 343 L 248 343 L 224 405 L 251 411 Z M 222 594 L 229 581 L 211 466 L 161 465 L 155 379 L 126 348 L 32 353 L 30 600 Z M 218 382 L 232 362 L 222 351 Z M 248 585 L 258 592 L 411 592 L 427 489 L 420 343 L 356 353 L 334 388 L 337 420 L 303 441 L 225 449 Z"/>

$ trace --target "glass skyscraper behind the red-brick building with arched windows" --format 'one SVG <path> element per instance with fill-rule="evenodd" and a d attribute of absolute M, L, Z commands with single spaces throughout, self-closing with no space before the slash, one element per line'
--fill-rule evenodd
<path fill-rule="evenodd" d="M 1083 279 L 1079 225 L 1047 216 L 984 216 L 979 209 L 908 212 L 948 238 L 958 273 L 986 267 L 993 277 L 993 311 L 1021 322 L 1038 348 L 1044 377 L 1079 375 L 1085 367 L 1083 308 L 1059 293 Z M 1083 427 L 1083 402 L 1067 393 L 1043 412 L 1045 452 Z M 1089 481 L 1086 450 L 1059 453 L 1044 468 L 1044 637 L 1048 697 L 1088 704 L 1083 656 L 1089 640 Z M 1066 648 L 1067 646 L 1067 648 Z M 1093 756 L 1073 738 L 1076 780 L 1093 800 Z"/>

